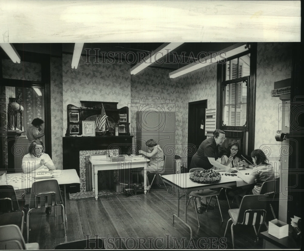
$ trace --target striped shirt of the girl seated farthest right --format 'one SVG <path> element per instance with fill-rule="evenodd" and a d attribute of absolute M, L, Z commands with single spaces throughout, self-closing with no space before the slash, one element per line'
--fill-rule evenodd
<path fill-rule="evenodd" d="M 275 178 L 275 172 L 271 165 L 255 166 L 252 169 L 251 175 L 255 177 L 256 185 L 252 189 L 253 194 L 259 194 L 261 185 L 265 181 L 273 180 Z"/>

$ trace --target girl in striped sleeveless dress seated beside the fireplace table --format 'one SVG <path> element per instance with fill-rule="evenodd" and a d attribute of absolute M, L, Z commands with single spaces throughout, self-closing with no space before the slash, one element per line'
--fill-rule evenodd
<path fill-rule="evenodd" d="M 150 163 L 147 165 L 147 172 L 161 172 L 164 169 L 164 152 L 161 149 L 160 145 L 157 145 L 154 139 L 149 139 L 146 142 L 148 147 L 148 152 L 139 150 L 139 154 L 143 154 L 150 158 Z M 143 171 L 142 171 L 143 175 Z M 147 187 L 150 186 L 148 177 L 147 177 Z"/>

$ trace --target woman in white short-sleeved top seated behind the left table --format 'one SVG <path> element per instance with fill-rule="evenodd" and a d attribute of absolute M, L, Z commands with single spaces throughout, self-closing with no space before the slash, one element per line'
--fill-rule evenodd
<path fill-rule="evenodd" d="M 29 144 L 29 153 L 22 158 L 23 173 L 37 171 L 55 170 L 56 167 L 50 156 L 44 153 L 44 146 L 41 140 L 34 140 Z"/>

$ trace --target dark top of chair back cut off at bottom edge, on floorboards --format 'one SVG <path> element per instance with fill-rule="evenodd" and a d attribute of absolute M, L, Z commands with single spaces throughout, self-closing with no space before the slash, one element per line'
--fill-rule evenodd
<path fill-rule="evenodd" d="M 85 240 L 60 243 L 55 246 L 55 249 L 105 249 L 105 246 L 101 238 L 90 238 Z"/>

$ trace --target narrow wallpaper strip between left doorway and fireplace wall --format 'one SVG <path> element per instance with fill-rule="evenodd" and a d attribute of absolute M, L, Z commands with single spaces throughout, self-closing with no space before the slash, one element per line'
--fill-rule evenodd
<path fill-rule="evenodd" d="M 51 137 L 52 160 L 57 169 L 62 167 L 62 131 L 63 131 L 63 93 L 62 58 L 51 57 Z"/>

